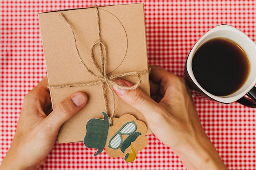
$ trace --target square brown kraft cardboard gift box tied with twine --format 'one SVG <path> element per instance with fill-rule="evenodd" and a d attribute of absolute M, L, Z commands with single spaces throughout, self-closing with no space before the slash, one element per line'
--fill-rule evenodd
<path fill-rule="evenodd" d="M 98 10 L 95 8 L 38 14 L 49 86 L 53 87 L 50 88 L 53 109 L 75 92 L 85 92 L 89 98 L 88 104 L 63 124 L 58 133 L 59 143 L 83 141 L 88 120 L 102 118 L 101 111 L 106 111 L 101 87 L 102 78 L 99 78 L 102 76 L 101 64 L 104 62 L 101 53 L 105 50 L 103 45 L 97 44 L 99 36 L 106 46 L 106 76 L 142 72 L 139 74 L 139 88 L 150 95 L 144 5 L 113 5 L 97 7 Z M 103 51 L 100 52 L 100 49 Z M 92 50 L 94 63 L 91 58 Z M 132 74 L 120 78 L 137 83 L 139 76 Z M 107 85 L 105 89 L 109 112 L 115 102 L 115 117 L 132 114 L 137 120 L 146 123 L 139 111 L 121 101 L 116 95 L 113 98 Z M 147 134 L 151 134 L 149 128 Z"/>

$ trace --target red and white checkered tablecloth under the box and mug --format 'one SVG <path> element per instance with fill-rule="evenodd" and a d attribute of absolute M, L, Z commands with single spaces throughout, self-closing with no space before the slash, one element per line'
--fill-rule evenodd
<path fill-rule="evenodd" d="M 45 75 L 37 13 L 143 2 L 149 64 L 183 75 L 193 44 L 209 29 L 229 24 L 256 41 L 255 0 L 0 0 L 0 162 L 11 145 L 22 101 Z M 256 109 L 194 97 L 202 125 L 231 170 L 256 169 Z M 42 170 L 184 170 L 171 149 L 148 135 L 133 163 L 94 157 L 82 142 L 58 144 Z"/>

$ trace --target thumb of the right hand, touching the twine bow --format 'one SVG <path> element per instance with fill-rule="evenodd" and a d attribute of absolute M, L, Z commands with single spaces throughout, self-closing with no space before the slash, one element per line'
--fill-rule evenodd
<path fill-rule="evenodd" d="M 116 83 L 122 87 L 131 87 L 133 84 L 125 80 L 117 80 Z M 157 102 L 146 95 L 141 89 L 126 90 L 113 85 L 113 90 L 123 100 L 141 113 L 153 113 L 157 108 Z M 146 117 L 146 115 L 144 115 Z"/>

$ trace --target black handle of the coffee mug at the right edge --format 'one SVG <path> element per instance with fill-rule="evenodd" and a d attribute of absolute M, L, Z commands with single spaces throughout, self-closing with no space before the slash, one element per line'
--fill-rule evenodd
<path fill-rule="evenodd" d="M 237 102 L 247 107 L 256 108 L 256 87 L 254 86 L 246 95 L 250 98 L 243 96 Z"/>

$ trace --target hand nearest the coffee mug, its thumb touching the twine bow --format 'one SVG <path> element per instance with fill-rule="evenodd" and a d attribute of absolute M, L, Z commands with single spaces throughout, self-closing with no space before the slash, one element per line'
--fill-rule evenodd
<path fill-rule="evenodd" d="M 187 169 L 227 169 L 204 132 L 189 88 L 183 78 L 151 66 L 151 98 L 141 89 L 113 89 L 117 96 L 141 111 L 160 141 L 177 154 Z M 121 86 L 132 83 L 117 80 Z"/>

